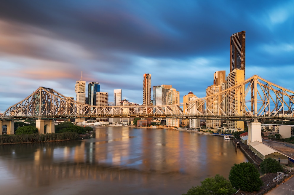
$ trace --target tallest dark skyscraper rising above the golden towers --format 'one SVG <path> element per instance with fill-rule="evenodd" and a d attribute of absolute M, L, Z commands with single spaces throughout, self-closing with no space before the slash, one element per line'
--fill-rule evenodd
<path fill-rule="evenodd" d="M 244 71 L 245 80 L 245 31 L 235 33 L 230 38 L 230 72 L 236 68 Z"/>

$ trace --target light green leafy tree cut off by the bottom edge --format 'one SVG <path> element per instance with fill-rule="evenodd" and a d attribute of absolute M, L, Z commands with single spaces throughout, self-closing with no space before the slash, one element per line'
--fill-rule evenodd
<path fill-rule="evenodd" d="M 225 195 L 236 192 L 230 181 L 218 174 L 214 178 L 206 178 L 204 181 L 201 181 L 201 184 L 201 186 L 190 188 L 187 194 L 183 195 Z"/>

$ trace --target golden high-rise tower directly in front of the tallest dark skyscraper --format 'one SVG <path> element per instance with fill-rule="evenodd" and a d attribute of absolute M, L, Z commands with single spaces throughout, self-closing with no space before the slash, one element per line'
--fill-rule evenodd
<path fill-rule="evenodd" d="M 240 84 L 244 81 L 244 71 L 239 69 L 234 69 L 234 71 L 230 72 L 227 77 L 227 87 L 234 87 L 237 84 Z M 244 89 L 238 90 L 233 89 L 231 90 L 230 94 L 228 94 L 228 104 L 227 104 L 227 111 L 230 116 L 236 115 L 237 112 L 239 115 L 244 115 L 245 109 L 243 108 L 243 94 Z M 229 103 L 230 102 L 230 103 Z M 238 131 L 244 130 L 244 122 L 243 121 L 228 121 L 227 127 L 231 129 L 236 129 Z"/>

